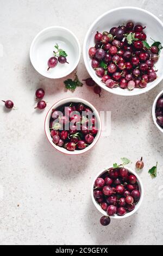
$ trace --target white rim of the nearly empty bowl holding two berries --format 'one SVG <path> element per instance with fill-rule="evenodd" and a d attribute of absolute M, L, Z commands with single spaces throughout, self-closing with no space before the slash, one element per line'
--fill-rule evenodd
<path fill-rule="evenodd" d="M 36 68 L 36 66 L 34 65 L 33 57 L 32 57 L 32 49 L 33 49 L 33 47 L 34 47 L 34 44 L 35 44 L 37 38 L 39 38 L 39 36 L 40 36 L 41 34 L 43 34 L 44 32 L 46 32 L 46 31 L 48 31 L 48 30 L 51 30 L 51 29 L 60 29 L 60 30 L 62 30 L 62 31 L 67 31 L 68 33 L 70 33 L 70 34 L 74 37 L 74 39 L 76 40 L 76 42 L 77 42 L 77 45 L 78 45 L 78 52 L 79 52 L 79 53 L 78 53 L 77 60 L 76 60 L 76 63 L 74 63 L 74 65 L 72 66 L 72 68 L 71 68 L 70 70 L 68 70 L 64 75 L 61 75 L 61 76 L 56 77 L 56 78 L 55 78 L 55 77 L 54 77 L 54 78 L 53 78 L 53 77 L 49 77 L 48 75 L 47 75 L 47 76 L 43 75 L 43 74 Z M 80 57 L 81 57 L 81 46 L 80 46 L 80 42 L 79 42 L 79 39 L 77 38 L 77 36 L 76 36 L 72 31 L 70 31 L 70 29 L 68 29 L 68 28 L 65 28 L 65 27 L 62 27 L 62 26 L 50 26 L 50 27 L 47 27 L 47 28 L 43 28 L 39 33 L 36 34 L 36 36 L 34 37 L 34 39 L 33 39 L 33 41 L 32 41 L 32 44 L 30 45 L 29 57 L 30 57 L 30 62 L 32 63 L 34 69 L 35 69 L 40 75 L 42 75 L 43 77 L 49 78 L 49 79 L 60 79 L 60 78 L 63 78 L 63 77 L 66 77 L 66 76 L 70 75 L 70 74 L 74 71 L 74 69 L 77 68 L 77 66 L 78 66 L 78 64 L 79 64 Z"/>

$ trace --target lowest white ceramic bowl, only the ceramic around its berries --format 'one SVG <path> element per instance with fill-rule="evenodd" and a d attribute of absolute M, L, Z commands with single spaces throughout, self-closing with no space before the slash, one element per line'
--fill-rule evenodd
<path fill-rule="evenodd" d="M 108 168 L 106 168 L 106 169 L 109 169 L 109 168 L 112 168 L 112 166 L 110 166 L 110 167 L 108 167 Z M 134 170 L 130 169 L 129 167 L 125 167 L 125 168 L 128 169 L 128 171 L 129 171 L 130 173 L 132 173 L 132 174 L 134 174 L 134 175 L 136 176 L 136 178 L 137 178 L 137 184 L 139 185 L 139 189 L 140 189 L 140 193 L 141 193 L 141 197 L 140 197 L 139 202 L 135 205 L 135 209 L 134 209 L 133 211 L 128 212 L 128 213 L 127 213 L 126 215 L 124 215 L 124 216 L 115 215 L 115 216 L 110 216 L 110 218 L 116 218 L 116 219 L 127 218 L 127 217 L 129 217 L 129 216 L 135 214 L 135 212 L 140 208 L 140 205 L 141 205 L 141 203 L 142 203 L 142 201 L 143 201 L 144 190 L 143 190 L 142 181 L 141 181 L 139 175 L 137 175 L 137 173 L 134 172 Z M 101 214 L 103 214 L 103 215 L 105 215 L 105 216 L 108 216 L 108 215 L 106 214 L 106 211 L 104 211 L 104 210 L 101 208 L 101 206 L 98 204 L 98 202 L 96 202 L 95 197 L 93 196 L 93 191 L 94 191 L 93 188 L 94 188 L 95 180 L 96 180 L 97 178 L 99 178 L 103 173 L 105 173 L 105 172 L 106 172 L 106 169 L 103 170 L 103 172 L 99 172 L 99 173 L 96 175 L 95 179 L 93 180 L 93 182 L 92 182 L 92 188 L 91 188 L 91 196 L 92 196 L 93 204 L 96 206 L 97 210 L 98 210 L 99 212 L 101 212 Z"/>

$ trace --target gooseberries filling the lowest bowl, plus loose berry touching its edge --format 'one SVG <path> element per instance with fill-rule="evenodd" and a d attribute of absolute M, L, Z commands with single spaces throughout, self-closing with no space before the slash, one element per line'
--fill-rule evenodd
<path fill-rule="evenodd" d="M 102 225 L 110 223 L 110 216 L 124 216 L 135 209 L 141 193 L 136 176 L 122 168 L 110 168 L 96 179 L 94 198 L 106 216 L 100 220 Z"/>

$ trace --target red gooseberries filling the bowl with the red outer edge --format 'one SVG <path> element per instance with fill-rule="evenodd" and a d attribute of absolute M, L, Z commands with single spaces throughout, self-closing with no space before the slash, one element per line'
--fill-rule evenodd
<path fill-rule="evenodd" d="M 83 103 L 70 102 L 53 109 L 49 122 L 52 141 L 68 151 L 89 147 L 98 132 L 98 120 Z"/>

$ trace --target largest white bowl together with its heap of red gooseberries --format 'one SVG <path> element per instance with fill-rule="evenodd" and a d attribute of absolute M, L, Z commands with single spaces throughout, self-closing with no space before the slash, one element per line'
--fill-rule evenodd
<path fill-rule="evenodd" d="M 92 79 L 117 95 L 139 95 L 163 78 L 163 23 L 136 7 L 112 9 L 93 22 L 83 57 Z"/>

